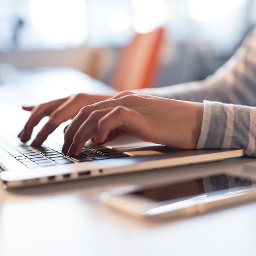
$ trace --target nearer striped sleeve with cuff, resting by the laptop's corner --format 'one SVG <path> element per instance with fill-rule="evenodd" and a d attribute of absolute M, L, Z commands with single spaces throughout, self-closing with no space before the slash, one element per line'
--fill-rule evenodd
<path fill-rule="evenodd" d="M 197 148 L 244 148 L 256 157 L 256 107 L 204 101 Z"/>

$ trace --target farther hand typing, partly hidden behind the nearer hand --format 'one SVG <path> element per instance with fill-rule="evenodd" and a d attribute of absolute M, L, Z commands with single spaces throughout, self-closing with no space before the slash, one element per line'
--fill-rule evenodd
<path fill-rule="evenodd" d="M 109 99 L 114 95 L 116 95 L 116 93 L 102 95 L 79 93 L 64 99 L 43 103 L 37 107 L 22 107 L 26 111 L 31 111 L 31 116 L 18 137 L 23 143 L 27 142 L 31 137 L 33 128 L 38 125 L 44 116 L 49 116 L 48 122 L 44 125 L 31 144 L 32 146 L 39 146 L 61 123 L 73 119 L 82 107 Z"/>

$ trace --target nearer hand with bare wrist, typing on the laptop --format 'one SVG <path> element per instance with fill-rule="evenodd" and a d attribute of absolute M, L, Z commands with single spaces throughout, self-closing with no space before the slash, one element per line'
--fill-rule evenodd
<path fill-rule="evenodd" d="M 62 152 L 76 156 L 87 140 L 104 144 L 124 135 L 192 149 L 198 143 L 203 112 L 203 103 L 124 91 L 111 99 L 83 107 L 65 131 Z"/>

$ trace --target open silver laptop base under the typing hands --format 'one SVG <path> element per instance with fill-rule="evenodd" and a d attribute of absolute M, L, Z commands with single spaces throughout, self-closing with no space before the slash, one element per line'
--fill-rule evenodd
<path fill-rule="evenodd" d="M 102 175 L 160 169 L 240 157 L 243 149 L 179 150 L 122 137 L 106 145 L 87 142 L 78 157 L 61 154 L 62 141 L 30 147 L 18 139 L 0 139 L 3 187 L 29 186 Z"/>

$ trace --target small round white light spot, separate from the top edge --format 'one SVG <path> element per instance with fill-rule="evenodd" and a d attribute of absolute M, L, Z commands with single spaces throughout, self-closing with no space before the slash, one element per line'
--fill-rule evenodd
<path fill-rule="evenodd" d="M 108 26 L 116 32 L 124 31 L 131 25 L 131 15 L 123 10 L 117 9 L 108 15 Z"/>

